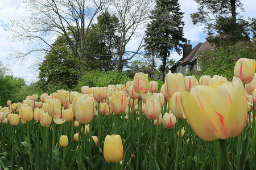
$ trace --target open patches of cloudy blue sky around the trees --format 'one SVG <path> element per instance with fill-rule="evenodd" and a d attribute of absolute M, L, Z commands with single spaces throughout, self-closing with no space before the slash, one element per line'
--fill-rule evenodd
<path fill-rule="evenodd" d="M 241 0 L 243 3 L 243 7 L 246 12 L 241 13 L 246 19 L 247 16 L 255 17 L 255 0 Z M 191 18 L 189 14 L 197 11 L 197 3 L 193 0 L 180 0 L 181 11 L 185 12 L 184 14 L 184 37 L 187 40 L 191 40 L 192 48 L 197 45 L 199 42 L 204 42 L 205 35 L 203 33 L 203 26 L 193 25 L 191 22 Z M 24 3 L 22 0 L 0 0 L 0 61 L 5 65 L 9 66 L 11 70 L 11 74 L 15 77 L 21 77 L 26 80 L 29 84 L 36 80 L 36 76 L 38 75 L 35 67 L 39 63 L 39 58 L 30 57 L 26 62 L 20 63 L 19 61 L 15 61 L 12 58 L 11 48 L 14 49 L 27 49 L 29 46 L 19 42 L 18 40 L 10 41 L 7 39 L 7 36 L 11 35 L 11 32 L 6 32 L 4 29 L 7 27 L 6 25 L 10 25 L 10 20 L 20 20 L 23 16 L 28 15 L 28 12 L 24 8 Z M 129 50 L 135 50 L 139 42 L 134 39 L 127 46 Z M 9 59 L 6 59 L 9 57 Z M 173 53 L 172 58 L 180 59 L 181 56 Z"/>

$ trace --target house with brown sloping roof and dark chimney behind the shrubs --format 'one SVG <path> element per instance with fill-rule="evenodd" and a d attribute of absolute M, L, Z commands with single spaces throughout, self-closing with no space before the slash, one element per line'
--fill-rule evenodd
<path fill-rule="evenodd" d="M 213 37 L 212 35 L 210 36 Z M 211 45 L 208 41 L 205 41 L 203 43 L 200 42 L 192 49 L 192 44 L 190 44 L 190 40 L 188 40 L 188 43 L 184 44 L 182 58 L 169 70 L 171 73 L 181 73 L 183 75 L 185 75 L 188 71 L 199 71 L 199 52 L 203 50 L 212 50 L 214 47 L 215 45 Z"/>

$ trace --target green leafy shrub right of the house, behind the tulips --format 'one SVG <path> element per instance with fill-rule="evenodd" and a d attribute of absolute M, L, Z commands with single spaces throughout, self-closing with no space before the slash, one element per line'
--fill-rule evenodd
<path fill-rule="evenodd" d="M 215 74 L 225 76 L 229 81 L 234 76 L 234 66 L 240 58 L 256 58 L 255 47 L 237 44 L 233 46 L 222 46 L 213 50 L 201 52 L 199 65 L 201 70 L 195 74 Z"/>

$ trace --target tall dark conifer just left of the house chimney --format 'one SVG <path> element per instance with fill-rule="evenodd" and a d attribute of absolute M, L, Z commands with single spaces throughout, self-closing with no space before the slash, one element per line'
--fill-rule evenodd
<path fill-rule="evenodd" d="M 151 12 L 151 22 L 147 25 L 146 52 L 162 60 L 162 80 L 166 70 L 166 61 L 171 50 L 181 53 L 180 46 L 187 40 L 183 37 L 182 21 L 184 12 L 180 12 L 177 0 L 156 0 L 155 9 Z"/>

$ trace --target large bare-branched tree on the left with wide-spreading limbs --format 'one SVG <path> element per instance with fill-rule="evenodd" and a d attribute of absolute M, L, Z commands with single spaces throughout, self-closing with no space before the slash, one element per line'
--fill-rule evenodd
<path fill-rule="evenodd" d="M 30 0 L 27 1 L 31 15 L 22 22 L 13 22 L 10 30 L 14 38 L 34 43 L 26 52 L 16 50 L 16 57 L 27 58 L 33 52 L 54 52 L 58 57 L 68 59 L 52 46 L 56 36 L 67 39 L 69 49 L 75 59 L 75 69 L 79 75 L 85 70 L 85 40 L 90 25 L 105 0 Z"/>

